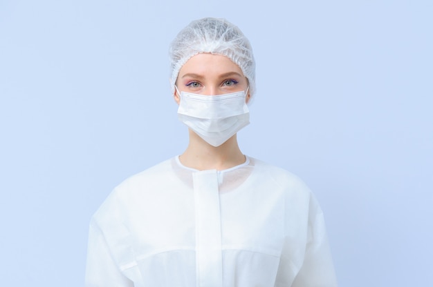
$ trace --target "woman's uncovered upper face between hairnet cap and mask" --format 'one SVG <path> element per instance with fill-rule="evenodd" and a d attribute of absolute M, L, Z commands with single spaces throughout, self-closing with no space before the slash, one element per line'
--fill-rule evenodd
<path fill-rule="evenodd" d="M 223 95 L 247 90 L 248 80 L 237 64 L 223 55 L 202 53 L 189 59 L 179 71 L 176 81 L 179 92 L 200 95 Z M 174 99 L 180 102 L 177 91 Z M 250 99 L 250 93 L 246 102 Z"/>

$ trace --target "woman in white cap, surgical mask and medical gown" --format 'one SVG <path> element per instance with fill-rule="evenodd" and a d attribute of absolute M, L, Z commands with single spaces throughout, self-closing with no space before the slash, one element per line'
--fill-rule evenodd
<path fill-rule="evenodd" d="M 324 219 L 291 173 L 243 155 L 255 61 L 223 19 L 170 47 L 190 143 L 130 177 L 91 220 L 86 286 L 336 286 Z"/>

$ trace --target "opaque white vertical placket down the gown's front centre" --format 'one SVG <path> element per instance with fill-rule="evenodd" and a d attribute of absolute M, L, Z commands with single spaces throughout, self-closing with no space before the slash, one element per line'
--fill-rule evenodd
<path fill-rule="evenodd" d="M 216 170 L 194 172 L 196 286 L 222 287 L 221 211 Z"/>

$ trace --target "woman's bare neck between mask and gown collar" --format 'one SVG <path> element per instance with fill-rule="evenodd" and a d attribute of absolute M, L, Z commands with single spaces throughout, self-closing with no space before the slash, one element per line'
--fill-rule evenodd
<path fill-rule="evenodd" d="M 234 135 L 221 146 L 211 146 L 190 130 L 190 143 L 179 157 L 184 166 L 196 170 L 225 170 L 246 161 Z"/>

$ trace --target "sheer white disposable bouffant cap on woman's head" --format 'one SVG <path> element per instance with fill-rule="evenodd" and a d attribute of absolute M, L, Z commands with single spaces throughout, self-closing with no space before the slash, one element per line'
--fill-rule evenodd
<path fill-rule="evenodd" d="M 172 92 L 182 66 L 194 55 L 212 53 L 224 55 L 241 68 L 255 92 L 255 60 L 250 41 L 241 30 L 225 19 L 203 18 L 192 21 L 178 33 L 169 46 L 172 68 Z"/>

